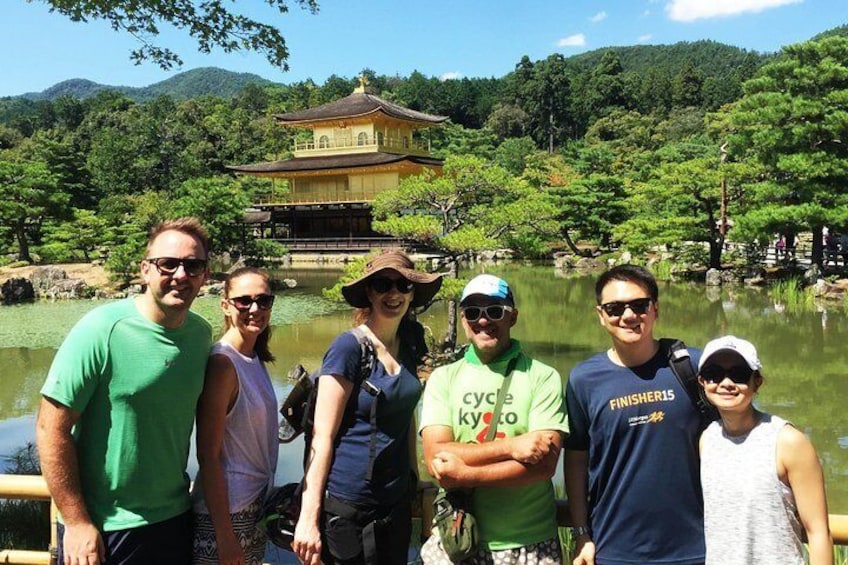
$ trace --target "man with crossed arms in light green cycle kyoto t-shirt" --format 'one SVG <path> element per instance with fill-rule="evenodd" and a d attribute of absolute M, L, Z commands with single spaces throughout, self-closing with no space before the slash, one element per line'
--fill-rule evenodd
<path fill-rule="evenodd" d="M 462 292 L 460 310 L 471 347 L 428 379 L 421 435 L 439 484 L 474 489 L 481 543 L 463 563 L 560 563 L 551 477 L 568 433 L 562 380 L 511 338 L 518 310 L 506 281 L 475 277 Z M 505 384 L 496 433 L 486 441 Z M 445 561 L 437 530 L 421 557 L 425 564 Z"/>

